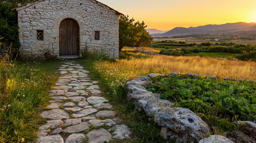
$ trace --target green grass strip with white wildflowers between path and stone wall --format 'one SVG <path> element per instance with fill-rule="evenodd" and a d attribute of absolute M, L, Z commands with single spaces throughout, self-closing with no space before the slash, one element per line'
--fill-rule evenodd
<path fill-rule="evenodd" d="M 127 101 L 128 91 L 125 83 L 130 75 L 144 73 L 129 71 L 129 67 L 125 66 L 126 63 L 122 63 L 123 67 L 118 67 L 113 60 L 95 61 L 95 59 L 98 58 L 80 60 L 80 62 L 85 69 L 90 70 L 90 76 L 94 80 L 100 81 L 99 86 L 104 96 L 113 105 L 118 116 L 124 120 L 123 123 L 132 130 L 132 139 L 112 142 L 166 142 L 159 135 L 161 128 L 149 120 L 146 114 L 136 110 L 132 102 Z"/>

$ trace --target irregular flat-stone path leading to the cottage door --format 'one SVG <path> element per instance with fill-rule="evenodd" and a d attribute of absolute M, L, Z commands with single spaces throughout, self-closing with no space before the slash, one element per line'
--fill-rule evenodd
<path fill-rule="evenodd" d="M 48 121 L 39 127 L 38 142 L 100 143 L 130 138 L 129 128 L 118 125 L 120 119 L 101 96 L 97 82 L 88 77 L 89 71 L 75 61 L 66 61 L 60 73 L 50 92 L 49 110 L 41 113 Z"/>

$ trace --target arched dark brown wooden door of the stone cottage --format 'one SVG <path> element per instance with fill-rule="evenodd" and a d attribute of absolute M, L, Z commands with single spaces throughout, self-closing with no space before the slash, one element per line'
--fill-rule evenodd
<path fill-rule="evenodd" d="M 60 23 L 61 55 L 79 55 L 79 27 L 78 23 L 70 18 Z"/>

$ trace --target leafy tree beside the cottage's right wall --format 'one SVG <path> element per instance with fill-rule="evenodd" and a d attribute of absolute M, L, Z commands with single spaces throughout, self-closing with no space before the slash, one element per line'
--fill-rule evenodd
<path fill-rule="evenodd" d="M 134 18 L 129 19 L 129 15 L 121 15 L 119 18 L 119 50 L 124 46 L 149 46 L 153 38 L 146 31 L 146 27 L 144 21 L 134 23 Z"/>

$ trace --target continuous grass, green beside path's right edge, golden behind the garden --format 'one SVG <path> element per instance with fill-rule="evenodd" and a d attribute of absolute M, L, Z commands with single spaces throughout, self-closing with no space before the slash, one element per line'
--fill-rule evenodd
<path fill-rule="evenodd" d="M 100 87 L 110 103 L 118 111 L 118 116 L 132 129 L 129 142 L 165 142 L 161 138 L 156 123 L 144 113 L 135 110 L 132 102 L 127 101 L 125 83 L 137 76 L 148 73 L 199 73 L 222 77 L 256 79 L 256 63 L 250 61 L 217 60 L 201 57 L 172 57 L 166 55 L 143 55 L 132 52 L 121 53 L 120 60 L 91 58 L 80 60 L 91 77 L 100 81 Z"/>

